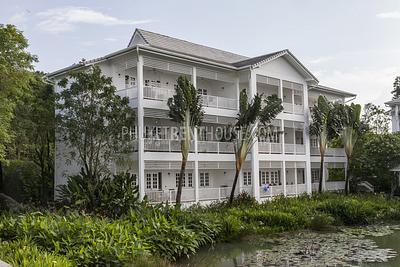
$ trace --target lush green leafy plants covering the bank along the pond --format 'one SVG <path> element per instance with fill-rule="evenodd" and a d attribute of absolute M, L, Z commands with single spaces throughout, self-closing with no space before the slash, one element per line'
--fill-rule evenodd
<path fill-rule="evenodd" d="M 168 264 L 148 259 L 175 261 L 202 246 L 249 234 L 398 219 L 399 200 L 340 194 L 278 197 L 262 204 L 241 196 L 233 206 L 223 202 L 186 210 L 142 202 L 117 219 L 61 211 L 3 214 L 0 258 L 22 266 L 33 260 L 38 265 L 30 266 L 47 266 L 53 261 L 57 266 L 118 266 L 137 259 L 143 266 L 164 266 Z M 11 253 L 14 250 L 18 253 Z"/>

